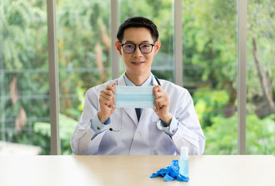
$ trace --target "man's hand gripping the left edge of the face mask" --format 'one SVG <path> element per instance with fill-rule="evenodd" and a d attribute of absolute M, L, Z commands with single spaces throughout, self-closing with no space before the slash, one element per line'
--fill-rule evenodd
<path fill-rule="evenodd" d="M 98 111 L 98 119 L 104 124 L 104 122 L 113 114 L 115 111 L 115 88 L 116 82 L 113 84 L 107 84 L 106 88 L 100 91 L 99 104 L 100 110 Z"/>

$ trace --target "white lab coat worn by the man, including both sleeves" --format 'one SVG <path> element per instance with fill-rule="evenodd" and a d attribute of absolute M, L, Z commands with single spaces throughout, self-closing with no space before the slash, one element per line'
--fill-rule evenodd
<path fill-rule="evenodd" d="M 137 121 L 135 108 L 115 108 L 107 130 L 94 137 L 95 132 L 91 129 L 89 120 L 97 115 L 100 108 L 98 102 L 100 91 L 113 82 L 125 85 L 121 76 L 87 91 L 83 113 L 70 141 L 74 154 L 172 155 L 179 154 L 181 146 L 187 146 L 189 154 L 203 154 L 205 137 L 192 98 L 186 89 L 166 80 L 159 82 L 162 89 L 169 94 L 170 113 L 173 119 L 179 121 L 177 132 L 172 137 L 157 128 L 159 117 L 152 108 L 143 108 L 140 121 Z M 157 84 L 155 78 L 153 84 Z M 121 130 L 112 132 L 109 128 L 114 130 L 121 128 Z"/>

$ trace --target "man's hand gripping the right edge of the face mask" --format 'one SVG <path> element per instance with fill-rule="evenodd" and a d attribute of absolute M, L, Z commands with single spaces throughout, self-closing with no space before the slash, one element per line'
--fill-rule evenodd
<path fill-rule="evenodd" d="M 153 95 L 155 96 L 155 113 L 167 126 L 170 126 L 173 115 L 169 113 L 170 100 L 168 93 L 162 89 L 162 86 L 157 85 L 153 89 Z"/>

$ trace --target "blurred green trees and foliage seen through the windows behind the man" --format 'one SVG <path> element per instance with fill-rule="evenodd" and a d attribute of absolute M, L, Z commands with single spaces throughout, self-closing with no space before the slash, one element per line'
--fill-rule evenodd
<path fill-rule="evenodd" d="M 162 47 L 153 73 L 174 81 L 173 0 L 120 0 L 120 23 L 146 16 Z M 206 136 L 204 154 L 237 152 L 237 1 L 183 0 L 184 87 Z M 58 0 L 61 153 L 83 110 L 85 92 L 111 79 L 111 1 Z M 275 154 L 275 3 L 248 2 L 247 154 Z M 1 141 L 50 154 L 47 10 L 43 0 L 0 1 Z M 121 73 L 123 63 L 121 62 Z"/>

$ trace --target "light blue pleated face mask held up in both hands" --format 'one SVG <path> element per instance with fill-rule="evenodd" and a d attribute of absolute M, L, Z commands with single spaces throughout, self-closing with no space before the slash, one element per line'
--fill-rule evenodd
<path fill-rule="evenodd" d="M 154 86 L 114 86 L 115 107 L 155 108 Z"/>

